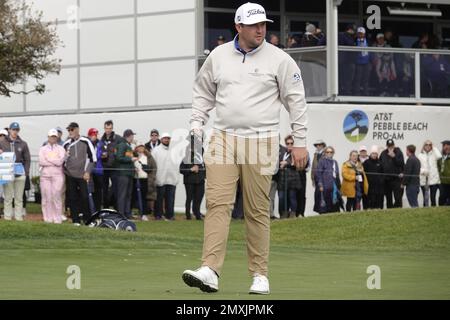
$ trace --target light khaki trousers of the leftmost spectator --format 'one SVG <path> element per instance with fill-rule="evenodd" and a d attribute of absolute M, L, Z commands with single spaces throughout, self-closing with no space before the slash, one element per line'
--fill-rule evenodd
<path fill-rule="evenodd" d="M 16 177 L 14 181 L 5 184 L 3 187 L 5 193 L 5 220 L 11 220 L 13 215 L 16 220 L 23 220 L 23 191 L 25 189 L 25 179 L 25 176 Z M 13 199 L 14 210 L 12 206 Z"/>

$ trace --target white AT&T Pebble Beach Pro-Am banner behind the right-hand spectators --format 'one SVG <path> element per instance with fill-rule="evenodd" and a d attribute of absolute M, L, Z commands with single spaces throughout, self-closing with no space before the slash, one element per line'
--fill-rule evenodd
<path fill-rule="evenodd" d="M 430 139 L 441 149 L 440 142 L 450 139 L 450 108 L 435 106 L 388 105 L 308 105 L 308 151 L 314 153 L 313 143 L 322 139 L 336 149 L 335 159 L 340 165 L 350 151 L 377 145 L 380 152 L 387 139 L 394 139 L 406 161 L 406 146 L 414 144 L 417 152 L 425 140 Z M 289 118 L 282 112 L 282 137 L 289 133 Z M 339 168 L 341 171 L 341 168 Z M 341 177 L 342 179 L 342 177 Z M 308 173 L 306 214 L 312 213 L 313 189 Z M 420 195 L 421 197 L 421 195 Z M 404 201 L 407 206 L 407 201 Z"/>

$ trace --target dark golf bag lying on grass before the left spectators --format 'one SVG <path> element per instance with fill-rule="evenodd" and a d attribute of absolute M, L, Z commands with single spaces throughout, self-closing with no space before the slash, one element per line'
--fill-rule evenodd
<path fill-rule="evenodd" d="M 94 213 L 86 222 L 97 228 L 109 228 L 114 230 L 136 231 L 136 224 L 128 220 L 124 215 L 113 209 L 102 209 Z"/>

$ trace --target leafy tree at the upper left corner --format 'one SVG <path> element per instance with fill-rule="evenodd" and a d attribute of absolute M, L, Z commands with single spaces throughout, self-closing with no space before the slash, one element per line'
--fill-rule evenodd
<path fill-rule="evenodd" d="M 60 59 L 52 57 L 60 45 L 56 27 L 44 23 L 22 1 L 0 0 L 0 96 L 45 92 L 42 80 L 59 74 Z M 34 88 L 15 91 L 15 85 L 34 81 Z"/>

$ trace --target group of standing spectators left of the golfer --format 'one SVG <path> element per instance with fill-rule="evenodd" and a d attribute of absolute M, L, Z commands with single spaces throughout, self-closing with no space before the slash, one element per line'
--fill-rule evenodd
<path fill-rule="evenodd" d="M 39 149 L 39 189 L 43 219 L 49 223 L 67 220 L 70 211 L 75 225 L 89 220 L 96 211 L 114 208 L 132 218 L 138 209 L 140 218 L 175 220 L 176 185 L 181 173 L 186 188 L 186 219 L 202 220 L 200 212 L 204 196 L 205 167 L 194 164 L 191 148 L 181 163 L 171 156 L 171 135 L 151 130 L 149 141 L 135 141 L 131 129 L 119 135 L 112 121 L 104 123 L 104 133 L 90 128 L 87 136 L 80 133 L 76 122 L 67 126 L 67 139 L 58 127 L 48 131 L 47 140 Z M 15 172 L 12 182 L 3 186 L 5 220 L 23 220 L 26 182 L 30 183 L 31 156 L 20 136 L 20 125 L 11 123 L 0 131 L 0 154 L 14 152 L 16 163 L 24 172 Z M 192 208 L 192 209 L 191 209 Z"/>

